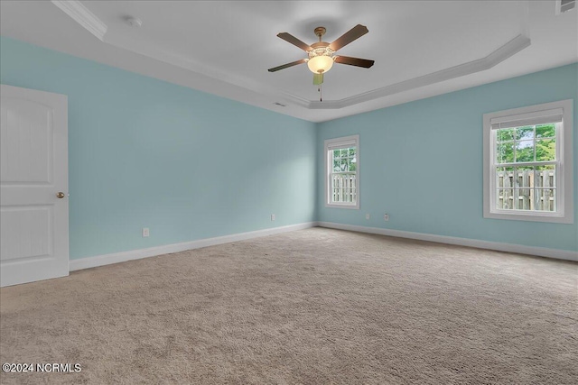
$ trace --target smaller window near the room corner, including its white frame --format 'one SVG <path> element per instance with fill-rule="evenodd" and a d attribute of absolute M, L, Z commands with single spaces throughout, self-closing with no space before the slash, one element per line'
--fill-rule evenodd
<path fill-rule="evenodd" d="M 359 208 L 359 135 L 325 141 L 327 207 Z"/>

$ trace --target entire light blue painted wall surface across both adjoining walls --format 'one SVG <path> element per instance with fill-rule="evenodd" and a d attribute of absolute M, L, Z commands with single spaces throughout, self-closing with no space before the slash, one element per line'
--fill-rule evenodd
<path fill-rule="evenodd" d="M 578 122 L 578 64 L 323 124 L 7 38 L 0 82 L 69 96 L 71 259 L 314 220 L 578 251 L 576 224 L 484 219 L 481 173 L 483 114 Z M 326 208 L 323 141 L 357 133 L 361 208 Z"/>

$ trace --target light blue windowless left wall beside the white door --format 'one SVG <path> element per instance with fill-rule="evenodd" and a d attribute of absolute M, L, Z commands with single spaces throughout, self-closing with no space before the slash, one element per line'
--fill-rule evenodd
<path fill-rule="evenodd" d="M 314 220 L 315 124 L 21 41 L 0 49 L 3 84 L 69 96 L 71 259 Z"/>

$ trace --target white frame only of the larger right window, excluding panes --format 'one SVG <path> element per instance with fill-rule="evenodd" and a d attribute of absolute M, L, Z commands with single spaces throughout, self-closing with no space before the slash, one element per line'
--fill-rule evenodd
<path fill-rule="evenodd" d="M 496 206 L 495 143 L 491 124 L 521 121 L 562 109 L 562 124 L 556 125 L 556 211 L 505 210 Z M 559 114 L 559 113 L 558 113 Z M 529 125 L 529 124 L 528 124 Z M 530 105 L 483 115 L 483 215 L 484 218 L 573 224 L 573 99 Z"/>

